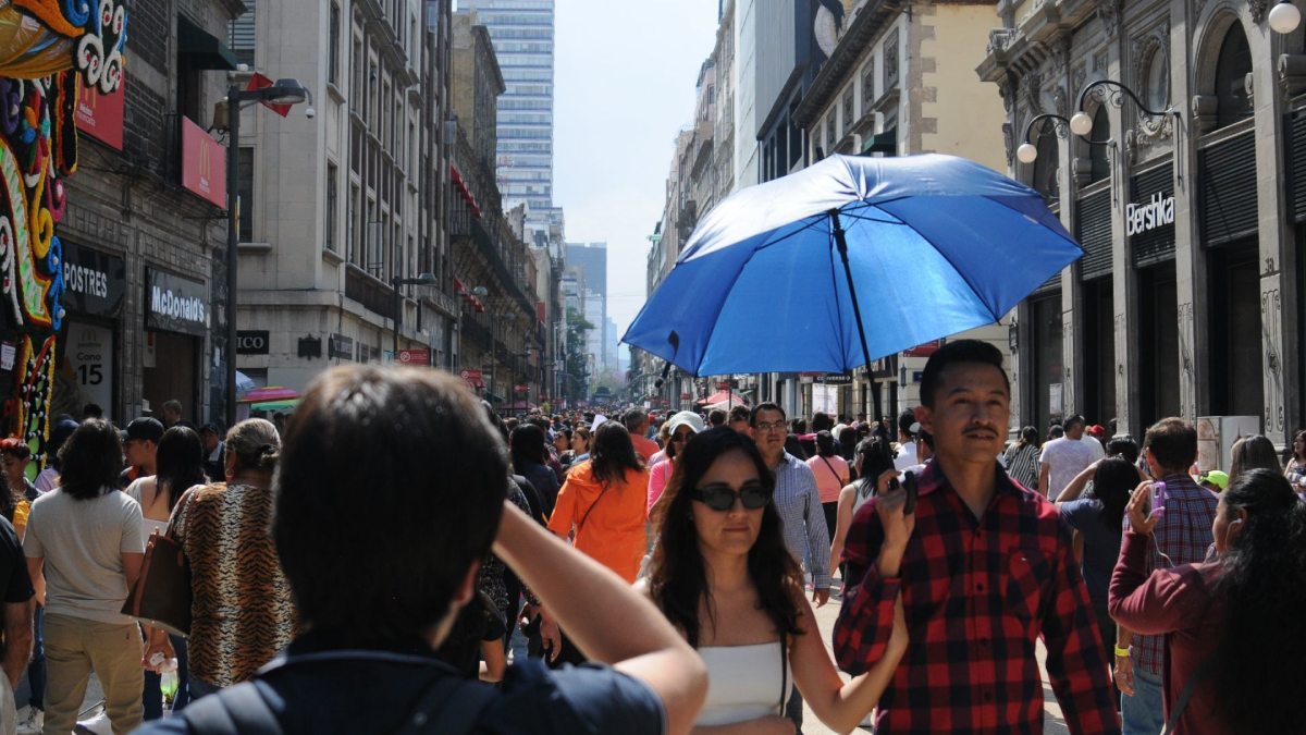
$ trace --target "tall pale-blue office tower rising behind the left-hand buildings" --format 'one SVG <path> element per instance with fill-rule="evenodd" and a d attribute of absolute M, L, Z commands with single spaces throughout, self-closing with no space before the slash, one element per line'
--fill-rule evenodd
<path fill-rule="evenodd" d="M 554 0 L 460 0 L 490 29 L 507 92 L 499 97 L 503 208 L 525 201 L 526 239 L 546 246 L 554 216 Z"/>

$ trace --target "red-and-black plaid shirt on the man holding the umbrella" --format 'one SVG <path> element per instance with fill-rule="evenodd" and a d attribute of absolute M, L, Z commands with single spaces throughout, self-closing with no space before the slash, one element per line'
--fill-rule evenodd
<path fill-rule="evenodd" d="M 994 497 L 976 519 L 938 464 L 925 471 L 900 577 L 875 569 L 884 530 L 874 498 L 858 510 L 835 657 L 853 675 L 879 660 L 901 591 L 910 641 L 880 697 L 876 732 L 1041 735 L 1040 637 L 1070 731 L 1119 732 L 1070 528 L 1046 498 L 995 472 Z"/>

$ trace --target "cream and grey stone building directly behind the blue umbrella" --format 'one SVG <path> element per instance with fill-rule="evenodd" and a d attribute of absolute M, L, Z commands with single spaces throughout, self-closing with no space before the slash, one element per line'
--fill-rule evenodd
<path fill-rule="evenodd" d="M 891 0 L 863 0 L 852 4 L 833 38 L 825 38 L 829 31 L 818 22 L 828 59 L 791 112 L 807 146 L 797 166 L 833 153 L 947 153 L 1003 170 L 1002 137 L 995 132 L 1003 109 L 974 84 L 974 67 L 989 41 L 985 29 L 998 20 L 994 5 L 932 0 L 914 3 L 908 12 Z M 858 284 L 859 296 L 867 296 L 865 288 L 874 294 L 875 284 Z M 1006 324 L 956 337 L 983 339 L 1010 353 Z M 935 344 L 875 361 L 884 415 L 919 404 L 921 371 Z M 852 381 L 797 379 L 797 412 L 872 413 L 870 383 L 861 374 Z"/>

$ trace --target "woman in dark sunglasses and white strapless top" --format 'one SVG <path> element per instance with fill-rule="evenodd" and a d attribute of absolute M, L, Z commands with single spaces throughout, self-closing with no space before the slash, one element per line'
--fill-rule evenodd
<path fill-rule="evenodd" d="M 746 436 L 709 429 L 684 446 L 658 504 L 658 543 L 640 585 L 708 666 L 696 732 L 793 732 L 794 685 L 827 726 L 852 731 L 906 649 L 901 602 L 884 658 L 844 683 L 803 595 L 772 505 L 774 479 Z"/>

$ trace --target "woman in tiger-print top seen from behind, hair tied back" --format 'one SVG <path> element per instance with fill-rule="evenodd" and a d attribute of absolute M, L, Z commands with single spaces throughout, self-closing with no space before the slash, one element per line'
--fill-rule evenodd
<path fill-rule="evenodd" d="M 268 534 L 281 437 L 270 421 L 247 419 L 227 432 L 226 443 L 227 481 L 185 490 L 168 524 L 191 565 L 185 645 L 192 704 L 252 679 L 290 642 L 295 625 L 290 587 Z M 176 655 L 158 628 L 145 653 L 145 660 L 155 653 Z"/>

